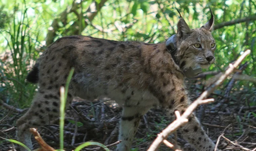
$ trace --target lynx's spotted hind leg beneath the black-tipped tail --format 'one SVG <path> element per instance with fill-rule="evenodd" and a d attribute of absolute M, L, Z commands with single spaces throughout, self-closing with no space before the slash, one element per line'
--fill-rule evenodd
<path fill-rule="evenodd" d="M 55 91 L 39 90 L 39 92 L 37 92 L 30 109 L 16 122 L 18 141 L 22 142 L 30 149 L 33 149 L 29 128 L 38 128 L 58 118 L 60 108 L 59 99 L 59 89 L 55 89 Z M 72 95 L 69 94 L 66 105 L 68 105 L 71 100 Z M 26 149 L 22 147 L 21 151 L 25 150 Z"/>

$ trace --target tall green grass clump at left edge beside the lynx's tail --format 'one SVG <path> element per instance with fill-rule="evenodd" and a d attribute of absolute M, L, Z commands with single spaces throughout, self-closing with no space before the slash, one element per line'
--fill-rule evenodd
<path fill-rule="evenodd" d="M 10 61 L 0 61 L 0 93 L 7 97 L 7 103 L 24 108 L 31 104 L 37 87 L 25 81 L 29 61 L 35 60 L 39 53 L 34 50 L 37 37 L 31 37 L 27 9 L 22 9 L 20 16 L 16 11 L 14 9 L 14 13 L 11 14 L 12 26 L 0 30 L 0 35 L 7 43 L 6 51 L 9 52 L 8 59 L 10 59 Z"/>

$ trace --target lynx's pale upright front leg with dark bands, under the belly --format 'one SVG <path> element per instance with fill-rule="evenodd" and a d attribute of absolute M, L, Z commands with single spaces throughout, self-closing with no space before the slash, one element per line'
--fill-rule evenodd
<path fill-rule="evenodd" d="M 140 119 L 148 110 L 147 107 L 123 107 L 118 137 L 122 142 L 118 144 L 116 151 L 130 151 Z"/>

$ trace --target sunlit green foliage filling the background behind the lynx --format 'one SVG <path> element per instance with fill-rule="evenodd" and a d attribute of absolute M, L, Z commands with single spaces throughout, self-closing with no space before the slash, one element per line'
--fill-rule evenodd
<path fill-rule="evenodd" d="M 107 0 L 101 5 L 103 2 L 3 0 L 0 51 L 11 52 L 12 61 L 1 62 L 0 94 L 8 94 L 7 100 L 20 107 L 29 106 L 36 86 L 26 83 L 25 77 L 34 63 L 31 60 L 45 49 L 47 40 L 51 43 L 63 36 L 82 34 L 119 41 L 136 39 L 159 43 L 177 31 L 179 14 L 175 8 L 179 9 L 191 29 L 201 27 L 210 18 L 208 6 L 215 15 L 216 25 L 256 14 L 256 2 L 251 0 Z M 89 9 L 92 3 L 95 3 L 92 5 L 95 8 Z M 216 29 L 213 36 L 217 45 L 216 63 L 210 70 L 223 70 L 245 49 L 251 49 L 251 55 L 245 59 L 249 65 L 243 73 L 255 77 L 255 20 Z M 253 86 L 255 84 L 246 81 L 239 81 L 236 85 L 238 90 Z"/>

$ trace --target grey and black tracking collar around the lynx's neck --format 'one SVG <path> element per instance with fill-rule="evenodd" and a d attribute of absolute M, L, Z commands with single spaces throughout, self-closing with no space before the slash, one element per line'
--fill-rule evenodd
<path fill-rule="evenodd" d="M 177 52 L 176 42 L 177 42 L 177 35 L 172 35 L 170 38 L 167 39 L 165 46 L 167 48 L 167 51 L 171 54 L 174 62 L 177 65 L 179 65 L 178 60 L 174 57 Z M 199 65 L 196 65 L 193 68 L 189 67 L 188 69 L 183 69 L 183 73 L 187 78 L 193 78 L 201 72 L 202 72 L 202 69 Z"/>

